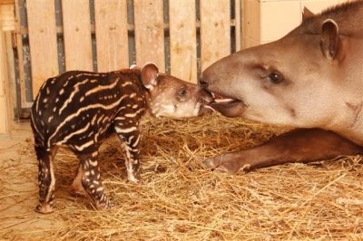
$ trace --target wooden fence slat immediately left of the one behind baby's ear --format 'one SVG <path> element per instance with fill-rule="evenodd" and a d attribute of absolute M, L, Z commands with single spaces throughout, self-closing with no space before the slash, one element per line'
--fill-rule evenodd
<path fill-rule="evenodd" d="M 94 0 L 98 72 L 129 67 L 127 2 Z"/>

